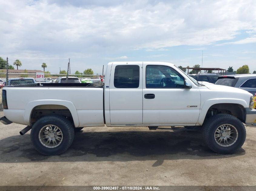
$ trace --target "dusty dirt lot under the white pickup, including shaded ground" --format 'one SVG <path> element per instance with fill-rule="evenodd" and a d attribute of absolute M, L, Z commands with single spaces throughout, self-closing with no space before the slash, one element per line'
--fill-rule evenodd
<path fill-rule="evenodd" d="M 256 126 L 244 146 L 220 155 L 193 131 L 91 127 L 76 133 L 60 156 L 43 156 L 25 126 L 0 123 L 0 185 L 256 186 Z"/>

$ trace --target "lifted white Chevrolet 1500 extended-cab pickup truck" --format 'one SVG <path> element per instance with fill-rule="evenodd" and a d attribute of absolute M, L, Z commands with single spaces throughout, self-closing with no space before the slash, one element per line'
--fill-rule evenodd
<path fill-rule="evenodd" d="M 245 141 L 243 123 L 256 118 L 253 97 L 247 91 L 199 84 L 166 62 L 110 62 L 104 85 L 86 85 L 5 86 L 1 122 L 27 125 L 20 133 L 31 129 L 35 149 L 46 155 L 66 151 L 75 131 L 105 124 L 149 129 L 198 126 L 211 150 L 229 154 Z"/>

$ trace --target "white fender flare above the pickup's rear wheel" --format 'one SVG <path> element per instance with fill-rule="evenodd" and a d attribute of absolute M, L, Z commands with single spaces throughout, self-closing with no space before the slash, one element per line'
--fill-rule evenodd
<path fill-rule="evenodd" d="M 32 110 L 39 105 L 61 105 L 67 107 L 72 115 L 75 127 L 79 127 L 79 119 L 75 105 L 71 101 L 67 100 L 35 100 L 28 102 L 25 107 L 26 109 L 24 114 L 24 121 L 26 122 L 26 124 L 30 124 L 30 116 L 32 114 Z"/>

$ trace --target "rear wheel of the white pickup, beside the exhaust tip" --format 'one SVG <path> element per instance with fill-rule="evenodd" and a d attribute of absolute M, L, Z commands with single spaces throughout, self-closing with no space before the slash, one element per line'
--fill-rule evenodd
<path fill-rule="evenodd" d="M 74 128 L 63 116 L 44 116 L 32 126 L 30 138 L 35 149 L 45 155 L 65 152 L 74 140 Z"/>

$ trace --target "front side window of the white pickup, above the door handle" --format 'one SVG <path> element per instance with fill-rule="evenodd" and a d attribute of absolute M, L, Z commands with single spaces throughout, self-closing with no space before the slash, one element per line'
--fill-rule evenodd
<path fill-rule="evenodd" d="M 146 88 L 184 88 L 184 78 L 168 66 L 147 65 Z"/>

